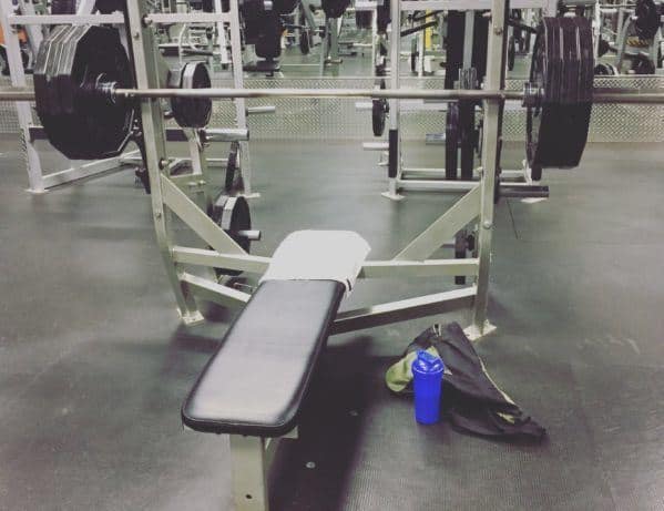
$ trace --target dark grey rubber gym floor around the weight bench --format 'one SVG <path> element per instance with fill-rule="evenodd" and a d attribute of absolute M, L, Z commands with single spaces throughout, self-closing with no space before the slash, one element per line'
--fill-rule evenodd
<path fill-rule="evenodd" d="M 183 431 L 180 406 L 232 316 L 178 324 L 130 172 L 31 196 L 19 143 L 0 152 L 0 509 L 229 510 L 227 439 Z M 509 147 L 505 167 L 521 154 Z M 302 440 L 277 456 L 274 509 L 664 509 L 663 156 L 592 145 L 578 171 L 548 173 L 551 200 L 498 206 L 498 331 L 477 349 L 544 444 L 416 426 L 382 374 L 432 319 L 335 337 Z M 453 201 L 382 198 L 359 142 L 257 141 L 252 161 L 257 254 L 315 227 L 355 229 L 389 257 Z M 344 306 L 451 286 L 362 283 Z"/>

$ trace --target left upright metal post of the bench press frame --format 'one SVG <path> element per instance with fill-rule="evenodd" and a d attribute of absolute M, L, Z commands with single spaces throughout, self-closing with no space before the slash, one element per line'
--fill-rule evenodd
<path fill-rule="evenodd" d="M 234 0 L 236 1 L 236 0 Z M 147 0 L 126 2 L 127 11 L 125 23 L 130 34 L 129 41 L 134 57 L 136 88 L 149 89 L 159 86 L 159 45 L 150 27 L 144 27 L 142 20 L 149 12 Z M 161 55 L 159 55 L 161 58 Z M 166 267 L 166 275 L 175 293 L 175 299 L 182 319 L 185 324 L 203 320 L 196 307 L 193 294 L 186 284 L 178 277 L 181 269 L 172 257 L 171 222 L 170 214 L 165 211 L 162 195 L 161 173 L 168 172 L 170 163 L 166 153 L 166 139 L 163 124 L 162 105 L 159 100 L 142 100 L 141 115 L 143 135 L 145 140 L 145 154 L 147 173 L 152 187 L 152 212 L 156 231 L 156 241 Z"/>

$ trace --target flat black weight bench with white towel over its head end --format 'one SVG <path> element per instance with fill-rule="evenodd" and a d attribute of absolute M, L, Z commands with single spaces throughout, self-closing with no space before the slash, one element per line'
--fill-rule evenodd
<path fill-rule="evenodd" d="M 185 400 L 187 428 L 231 435 L 238 511 L 268 509 L 273 439 L 296 438 L 316 362 L 368 252 L 355 233 L 288 236 Z"/>

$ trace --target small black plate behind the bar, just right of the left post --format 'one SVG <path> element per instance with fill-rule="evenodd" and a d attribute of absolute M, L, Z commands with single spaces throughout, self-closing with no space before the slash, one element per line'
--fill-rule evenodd
<path fill-rule="evenodd" d="M 187 62 L 180 71 L 181 89 L 208 89 L 210 72 L 203 62 Z M 182 127 L 205 127 L 212 115 L 210 98 L 172 98 L 171 110 Z"/>

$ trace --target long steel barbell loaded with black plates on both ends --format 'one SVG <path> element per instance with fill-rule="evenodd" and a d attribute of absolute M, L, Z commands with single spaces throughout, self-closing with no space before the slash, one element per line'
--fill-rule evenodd
<path fill-rule="evenodd" d="M 581 159 L 593 103 L 664 104 L 660 91 L 593 88 L 593 41 L 584 18 L 544 18 L 537 32 L 529 81 L 522 91 L 415 89 L 222 89 L 211 88 L 202 64 L 185 65 L 168 88 L 136 89 L 116 28 L 58 27 L 44 39 L 34 89 L 0 89 L 0 101 L 34 101 L 51 144 L 72 160 L 119 155 L 135 136 L 137 106 L 171 100 L 183 127 L 201 127 L 212 100 L 255 98 L 369 98 L 454 101 L 520 101 L 527 109 L 531 167 L 571 167 Z M 180 74 L 177 74 L 180 73 Z M 184 110 L 183 110 L 184 109 Z"/>

